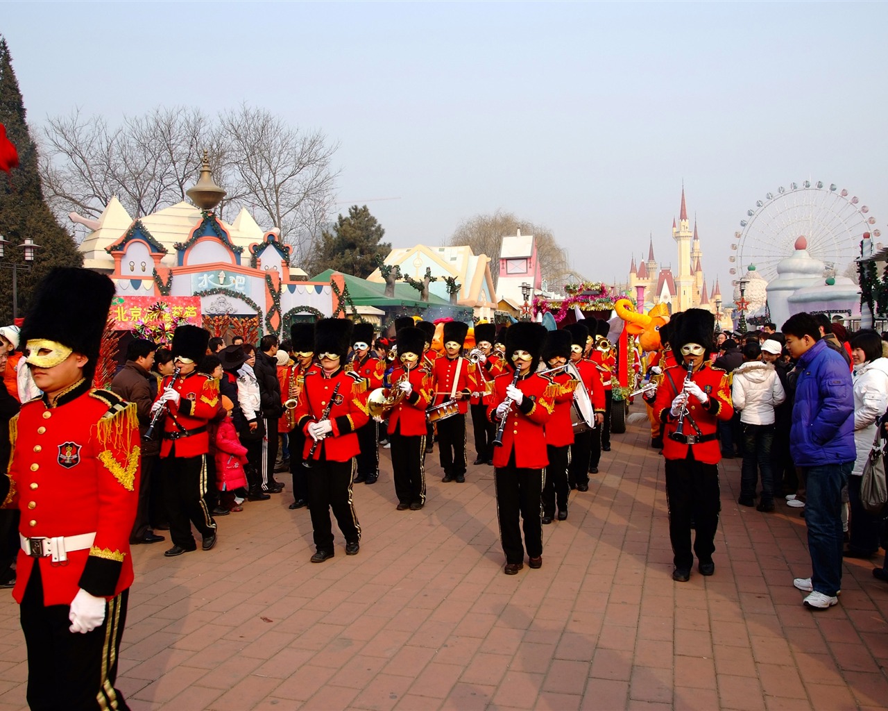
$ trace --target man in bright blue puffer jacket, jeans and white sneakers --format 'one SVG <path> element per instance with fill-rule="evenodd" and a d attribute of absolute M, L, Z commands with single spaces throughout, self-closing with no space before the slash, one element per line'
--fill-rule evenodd
<path fill-rule="evenodd" d="M 826 610 L 838 603 L 842 587 L 842 488 L 857 454 L 851 374 L 842 356 L 821 339 L 810 314 L 790 316 L 783 333 L 797 361 L 789 449 L 807 479 L 812 567 L 811 578 L 797 578 L 793 585 L 810 593 L 806 607 Z"/>

